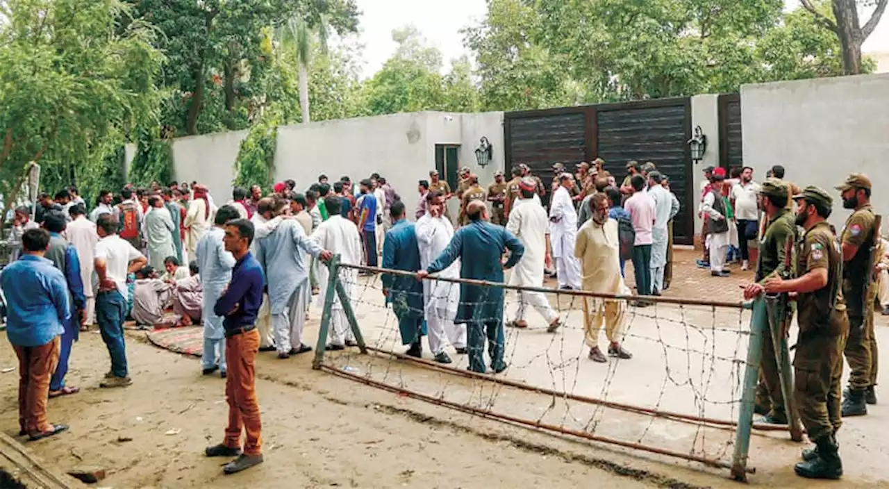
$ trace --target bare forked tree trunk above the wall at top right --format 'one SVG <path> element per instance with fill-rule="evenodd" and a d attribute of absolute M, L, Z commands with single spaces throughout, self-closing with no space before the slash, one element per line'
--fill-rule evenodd
<path fill-rule="evenodd" d="M 832 15 L 824 12 L 827 5 L 818 0 L 800 0 L 805 10 L 812 13 L 821 26 L 836 34 L 842 46 L 843 74 L 859 75 L 861 70 L 861 44 L 874 32 L 883 17 L 887 0 L 833 0 Z M 874 7 L 870 19 L 863 26 L 859 20 L 858 6 Z"/>

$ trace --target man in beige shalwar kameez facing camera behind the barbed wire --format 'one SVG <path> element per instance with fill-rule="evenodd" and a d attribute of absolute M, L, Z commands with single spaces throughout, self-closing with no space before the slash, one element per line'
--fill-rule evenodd
<path fill-rule="evenodd" d="M 597 193 L 589 200 L 593 218 L 581 226 L 574 244 L 574 256 L 581 262 L 581 288 L 595 293 L 629 295 L 621 276 L 621 249 L 617 221 L 608 218 L 608 197 Z M 589 358 L 605 363 L 608 359 L 599 349 L 599 332 L 605 322 L 610 357 L 631 358 L 621 347 L 621 325 L 627 301 L 585 297 L 583 301 L 583 329 L 589 346 Z"/>

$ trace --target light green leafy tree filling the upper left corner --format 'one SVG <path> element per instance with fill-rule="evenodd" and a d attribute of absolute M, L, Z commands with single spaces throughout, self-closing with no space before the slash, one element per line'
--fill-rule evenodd
<path fill-rule="evenodd" d="M 118 179 L 108 170 L 137 125 L 157 119 L 156 33 L 117 0 L 18 0 L 0 9 L 4 206 L 16 202 L 31 161 L 44 188 L 80 176 L 89 198 Z"/>

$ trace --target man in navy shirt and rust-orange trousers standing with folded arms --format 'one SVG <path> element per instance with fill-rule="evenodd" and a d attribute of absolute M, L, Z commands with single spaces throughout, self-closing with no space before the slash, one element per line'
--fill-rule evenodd
<path fill-rule="evenodd" d="M 259 261 L 250 253 L 253 224 L 249 220 L 230 220 L 222 238 L 225 249 L 235 257 L 231 282 L 222 293 L 213 312 L 225 319 L 225 356 L 228 376 L 225 394 L 228 398 L 228 428 L 225 441 L 208 446 L 208 457 L 237 457 L 223 471 L 234 474 L 262 463 L 260 452 L 260 403 L 256 399 L 256 354 L 260 350 L 260 332 L 256 317 L 262 304 L 264 279 Z M 241 431 L 246 430 L 244 452 L 241 452 Z"/>

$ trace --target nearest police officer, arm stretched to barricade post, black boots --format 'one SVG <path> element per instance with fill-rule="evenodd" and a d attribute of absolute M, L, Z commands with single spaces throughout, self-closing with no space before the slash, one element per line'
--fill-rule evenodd
<path fill-rule="evenodd" d="M 830 228 L 833 199 L 822 188 L 806 187 L 797 201 L 798 226 L 805 234 L 797 242 L 797 278 L 765 279 L 768 293 L 797 293 L 797 355 L 793 360 L 794 394 L 814 449 L 803 451 L 797 476 L 838 479 L 843 475 L 837 447 L 843 348 L 849 332 L 841 287 L 843 256 Z"/>

